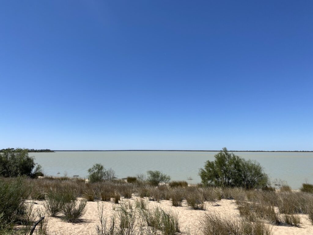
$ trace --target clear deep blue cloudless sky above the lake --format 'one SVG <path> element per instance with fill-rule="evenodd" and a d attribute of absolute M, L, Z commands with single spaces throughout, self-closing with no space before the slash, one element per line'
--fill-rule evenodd
<path fill-rule="evenodd" d="M 0 148 L 313 150 L 312 1 L 1 1 Z"/>

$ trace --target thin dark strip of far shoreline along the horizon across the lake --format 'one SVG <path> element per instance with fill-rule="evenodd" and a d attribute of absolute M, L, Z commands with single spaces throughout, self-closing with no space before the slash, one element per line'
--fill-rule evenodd
<path fill-rule="evenodd" d="M 219 152 L 220 150 L 52 150 L 54 152 Z M 283 152 L 283 153 L 311 153 L 313 151 L 263 151 L 263 150 L 228 150 L 229 152 Z"/>

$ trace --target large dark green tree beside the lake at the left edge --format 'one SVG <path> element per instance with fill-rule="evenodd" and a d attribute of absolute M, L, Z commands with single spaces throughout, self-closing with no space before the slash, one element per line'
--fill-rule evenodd
<path fill-rule="evenodd" d="M 28 156 L 27 149 L 6 149 L 0 153 L 0 175 L 4 177 L 18 175 L 36 177 L 44 174 L 41 166 L 34 162 L 34 157 Z"/>

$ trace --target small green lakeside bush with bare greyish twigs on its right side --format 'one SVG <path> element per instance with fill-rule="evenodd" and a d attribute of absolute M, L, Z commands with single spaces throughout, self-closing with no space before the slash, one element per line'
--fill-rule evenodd
<path fill-rule="evenodd" d="M 90 183 L 99 182 L 102 180 L 113 180 L 115 178 L 115 171 L 111 168 L 106 170 L 103 165 L 96 163 L 88 169 L 88 180 Z"/>

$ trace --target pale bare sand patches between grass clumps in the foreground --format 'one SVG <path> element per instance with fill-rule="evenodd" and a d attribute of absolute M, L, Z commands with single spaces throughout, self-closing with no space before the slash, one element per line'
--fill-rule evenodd
<path fill-rule="evenodd" d="M 130 200 L 134 202 L 138 197 L 133 197 L 131 199 L 123 199 L 123 201 Z M 42 201 L 36 201 L 37 206 L 42 207 Z M 101 203 L 101 202 L 100 202 Z M 104 203 L 105 215 L 107 217 L 107 222 L 110 223 L 110 216 L 113 214 L 113 206 L 116 206 L 113 202 L 102 202 Z M 180 220 L 180 228 L 182 233 L 186 234 L 187 231 L 193 235 L 195 231 L 199 232 L 199 220 L 205 213 L 221 213 L 225 215 L 231 215 L 233 218 L 239 217 L 239 212 L 237 206 L 233 200 L 221 200 L 218 201 L 220 206 L 213 206 L 212 203 L 205 202 L 206 210 L 192 210 L 187 206 L 186 201 L 183 201 L 182 206 L 172 206 L 171 201 L 162 200 L 160 203 L 149 201 L 149 207 L 153 208 L 159 206 L 172 212 L 178 213 L 178 218 Z M 68 223 L 61 220 L 61 218 L 49 217 L 48 222 L 48 234 L 59 234 L 59 235 L 74 235 L 74 234 L 95 234 L 95 225 L 99 221 L 97 201 L 87 202 L 86 214 L 82 217 L 82 221 L 79 223 Z M 301 227 L 287 227 L 287 226 L 272 226 L 275 235 L 309 235 L 313 234 L 313 225 L 310 223 L 307 215 L 300 215 L 301 217 Z"/>

